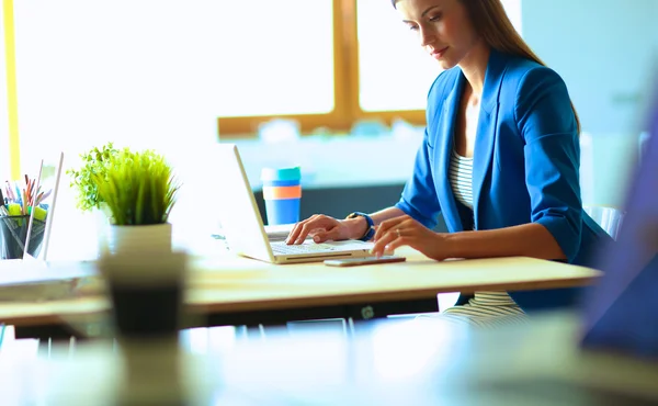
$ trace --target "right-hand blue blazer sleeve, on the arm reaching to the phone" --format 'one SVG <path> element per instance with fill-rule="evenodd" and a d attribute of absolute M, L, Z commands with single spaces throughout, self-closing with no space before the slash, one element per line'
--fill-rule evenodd
<path fill-rule="evenodd" d="M 531 219 L 548 229 L 572 262 L 580 246 L 582 202 L 580 145 L 567 87 L 555 71 L 537 67 L 521 78 L 517 94 Z"/>

